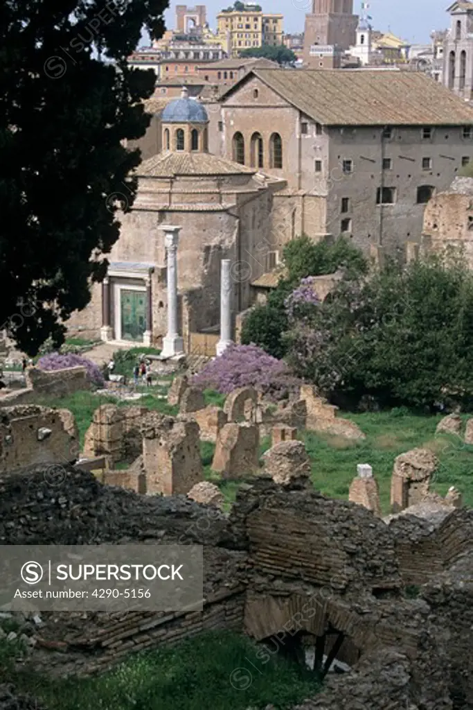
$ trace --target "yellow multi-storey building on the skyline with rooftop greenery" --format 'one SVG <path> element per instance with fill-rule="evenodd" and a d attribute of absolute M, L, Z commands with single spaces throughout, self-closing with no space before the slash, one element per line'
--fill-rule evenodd
<path fill-rule="evenodd" d="M 245 49 L 282 44 L 283 16 L 254 7 L 246 5 L 243 10 L 222 11 L 217 15 L 218 37 L 230 57 L 238 57 Z"/>

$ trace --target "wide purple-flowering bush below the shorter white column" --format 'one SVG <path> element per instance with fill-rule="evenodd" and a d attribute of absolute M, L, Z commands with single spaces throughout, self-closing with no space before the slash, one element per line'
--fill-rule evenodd
<path fill-rule="evenodd" d="M 252 386 L 274 398 L 284 398 L 299 387 L 286 364 L 255 345 L 230 345 L 192 379 L 193 383 L 229 393 Z"/>

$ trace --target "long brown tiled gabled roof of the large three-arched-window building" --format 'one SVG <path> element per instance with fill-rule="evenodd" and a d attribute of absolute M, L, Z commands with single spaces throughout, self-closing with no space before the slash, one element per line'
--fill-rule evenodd
<path fill-rule="evenodd" d="M 325 126 L 455 126 L 473 124 L 473 109 L 423 72 L 256 69 L 255 75 Z"/>

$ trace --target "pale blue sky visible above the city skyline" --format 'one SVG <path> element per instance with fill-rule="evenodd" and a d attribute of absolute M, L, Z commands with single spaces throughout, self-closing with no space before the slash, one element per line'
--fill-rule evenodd
<path fill-rule="evenodd" d="M 284 15 L 284 32 L 294 33 L 304 30 L 304 19 L 311 7 L 311 0 L 258 0 L 267 12 L 281 12 Z M 374 29 L 395 35 L 409 43 L 428 42 L 432 30 L 442 30 L 450 26 L 450 15 L 446 12 L 453 0 L 368 0 L 369 14 Z M 181 0 L 180 4 L 186 4 Z M 188 6 L 207 6 L 207 21 L 216 28 L 216 14 L 222 8 L 233 4 L 233 0 L 187 1 Z M 175 3 L 170 2 L 165 17 L 167 27 L 174 28 Z M 360 0 L 354 0 L 354 11 L 360 13 Z"/>

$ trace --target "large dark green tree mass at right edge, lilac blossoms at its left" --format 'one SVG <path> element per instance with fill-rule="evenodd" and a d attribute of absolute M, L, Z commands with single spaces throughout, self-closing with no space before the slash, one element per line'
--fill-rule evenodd
<path fill-rule="evenodd" d="M 345 281 L 286 335 L 288 361 L 329 396 L 382 405 L 468 403 L 473 276 L 459 259 L 389 265 Z"/>

